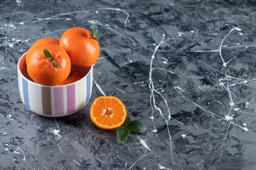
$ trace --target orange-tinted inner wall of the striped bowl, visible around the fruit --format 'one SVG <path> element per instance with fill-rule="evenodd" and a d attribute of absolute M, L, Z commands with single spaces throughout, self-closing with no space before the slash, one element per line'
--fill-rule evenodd
<path fill-rule="evenodd" d="M 27 73 L 26 55 L 27 55 L 27 53 L 25 53 L 24 55 L 21 56 L 18 67 L 20 68 L 21 74 L 22 74 L 25 78 L 29 79 L 31 82 L 36 83 L 36 82 L 29 76 L 29 74 Z M 71 69 L 76 69 L 76 70 L 80 71 L 81 73 L 83 73 L 83 75 L 87 75 L 87 74 L 89 73 L 89 71 L 90 71 L 90 68 L 91 68 L 91 66 L 90 66 L 90 67 L 78 67 L 78 66 L 71 65 Z"/>

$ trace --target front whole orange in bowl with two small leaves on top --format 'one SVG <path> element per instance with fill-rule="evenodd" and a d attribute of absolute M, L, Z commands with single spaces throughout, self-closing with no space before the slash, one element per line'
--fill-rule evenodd
<path fill-rule="evenodd" d="M 27 73 L 38 84 L 55 86 L 70 74 L 71 62 L 67 52 L 56 44 L 35 47 L 27 62 Z"/>

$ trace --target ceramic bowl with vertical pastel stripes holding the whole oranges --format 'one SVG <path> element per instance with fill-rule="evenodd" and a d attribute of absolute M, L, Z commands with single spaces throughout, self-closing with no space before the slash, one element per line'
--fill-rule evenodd
<path fill-rule="evenodd" d="M 18 62 L 18 85 L 22 102 L 34 113 L 48 117 L 63 117 L 81 110 L 92 94 L 92 67 L 72 68 L 85 76 L 63 86 L 43 86 L 27 73 L 26 54 Z"/>

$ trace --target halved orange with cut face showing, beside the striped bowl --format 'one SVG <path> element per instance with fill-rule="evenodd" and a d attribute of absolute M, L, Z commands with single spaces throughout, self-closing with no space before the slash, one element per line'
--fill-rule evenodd
<path fill-rule="evenodd" d="M 126 108 L 117 97 L 101 96 L 92 102 L 90 118 L 98 128 L 112 130 L 124 123 Z"/>

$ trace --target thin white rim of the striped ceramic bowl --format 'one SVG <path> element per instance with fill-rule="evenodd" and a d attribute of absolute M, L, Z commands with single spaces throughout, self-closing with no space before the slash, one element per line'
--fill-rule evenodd
<path fill-rule="evenodd" d="M 26 52 L 26 53 L 27 53 L 27 52 Z M 83 79 L 87 78 L 87 76 L 89 75 L 89 73 L 92 72 L 92 67 L 93 67 L 93 65 L 90 66 L 90 70 L 88 71 L 88 73 L 87 73 L 83 78 L 79 79 L 79 80 L 76 81 L 76 82 L 73 82 L 73 83 L 70 83 L 70 84 L 64 84 L 64 85 L 61 85 L 61 86 L 45 86 L 45 85 L 41 85 L 41 84 L 32 82 L 31 80 L 27 79 L 27 78 L 21 73 L 21 71 L 20 71 L 20 60 L 21 60 L 21 58 L 22 58 L 26 53 L 24 53 L 24 54 L 19 58 L 19 61 L 18 61 L 18 64 L 17 64 L 18 73 L 22 76 L 22 78 L 24 78 L 25 80 L 27 80 L 27 82 L 29 82 L 29 83 L 31 83 L 31 84 L 34 84 L 34 85 L 36 85 L 36 86 L 40 86 L 40 87 L 64 87 L 64 86 L 70 86 L 70 85 L 72 85 L 72 84 L 76 84 L 76 83 L 78 83 L 78 82 L 81 82 Z"/>

